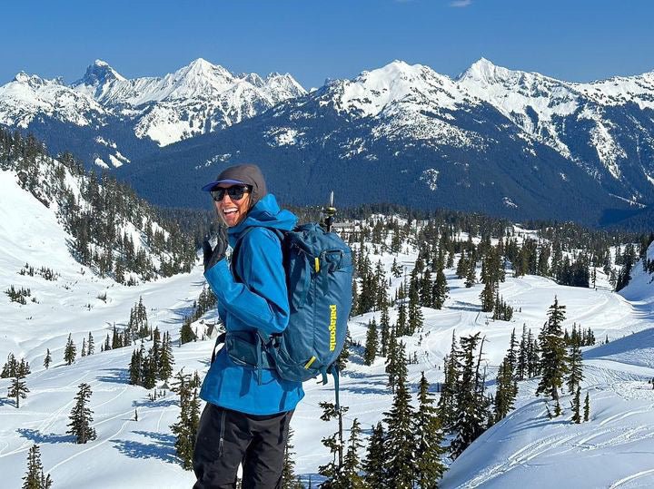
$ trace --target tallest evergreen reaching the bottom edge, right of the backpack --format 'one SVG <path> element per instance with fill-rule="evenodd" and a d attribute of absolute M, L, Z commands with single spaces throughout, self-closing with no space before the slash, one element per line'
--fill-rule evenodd
<path fill-rule="evenodd" d="M 414 475 L 415 441 L 413 439 L 413 407 L 407 386 L 404 345 L 397 351 L 398 377 L 391 410 L 384 413 L 388 426 L 384 449 L 387 454 L 386 475 L 397 489 L 411 489 Z"/>

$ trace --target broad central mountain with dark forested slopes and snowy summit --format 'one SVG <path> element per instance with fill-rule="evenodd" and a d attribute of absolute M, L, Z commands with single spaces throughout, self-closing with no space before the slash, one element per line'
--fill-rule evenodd
<path fill-rule="evenodd" d="M 490 64 L 475 72 L 483 66 Z M 328 82 L 222 132 L 164 148 L 119 174 L 163 205 L 202 205 L 202 182 L 221 165 L 244 161 L 258 162 L 283 200 L 301 204 L 322 203 L 339 189 L 342 205 L 394 202 L 597 224 L 609 210 L 629 213 L 654 201 L 654 185 L 642 169 L 639 179 L 634 173 L 607 178 L 592 158 L 572 160 L 560 152 L 556 141 L 573 147 L 570 134 L 536 137 L 540 130 L 510 118 L 515 110 L 496 106 L 495 98 L 475 94 L 465 83 L 395 61 L 352 80 Z M 559 102 L 543 104 L 562 111 L 571 95 L 551 90 Z M 639 153 L 643 164 L 654 164 L 648 151 Z"/>

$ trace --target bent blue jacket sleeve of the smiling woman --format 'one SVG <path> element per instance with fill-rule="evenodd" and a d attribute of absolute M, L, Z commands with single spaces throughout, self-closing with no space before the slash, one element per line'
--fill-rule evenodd
<path fill-rule="evenodd" d="M 290 308 L 279 238 L 264 228 L 248 232 L 235 266 L 243 283 L 233 278 L 226 259 L 204 272 L 218 301 L 246 325 L 267 334 L 281 333 Z"/>

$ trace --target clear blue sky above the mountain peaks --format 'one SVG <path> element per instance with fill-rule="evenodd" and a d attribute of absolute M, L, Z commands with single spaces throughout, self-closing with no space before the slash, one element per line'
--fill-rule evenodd
<path fill-rule="evenodd" d="M 133 78 L 203 57 L 307 88 L 394 59 L 451 76 L 482 56 L 570 81 L 654 71 L 651 0 L 22 0 L 2 15 L 0 84 L 70 83 L 96 58 Z"/>

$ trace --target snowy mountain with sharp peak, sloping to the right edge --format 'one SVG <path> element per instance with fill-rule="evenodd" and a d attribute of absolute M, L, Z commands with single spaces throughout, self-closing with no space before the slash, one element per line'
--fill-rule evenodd
<path fill-rule="evenodd" d="M 654 72 L 569 83 L 481 59 L 457 82 L 599 181 L 623 181 L 629 199 L 654 185 Z"/>

